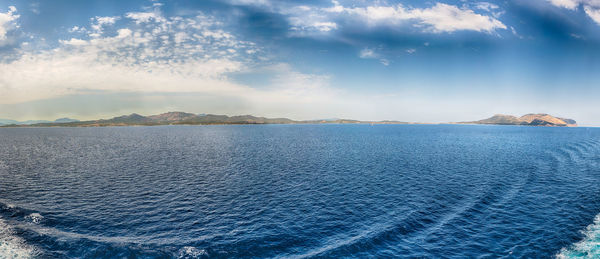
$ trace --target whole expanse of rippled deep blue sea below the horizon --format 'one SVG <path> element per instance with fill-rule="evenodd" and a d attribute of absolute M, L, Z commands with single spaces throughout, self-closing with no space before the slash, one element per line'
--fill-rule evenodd
<path fill-rule="evenodd" d="M 0 129 L 0 258 L 600 255 L 600 129 Z"/>

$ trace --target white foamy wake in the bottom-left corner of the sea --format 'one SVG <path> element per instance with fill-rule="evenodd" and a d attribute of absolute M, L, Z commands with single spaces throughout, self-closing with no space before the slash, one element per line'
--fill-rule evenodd
<path fill-rule="evenodd" d="M 0 219 L 0 257 L 1 258 L 34 258 L 38 254 L 37 249 L 25 243 L 16 236 L 14 229 Z"/>

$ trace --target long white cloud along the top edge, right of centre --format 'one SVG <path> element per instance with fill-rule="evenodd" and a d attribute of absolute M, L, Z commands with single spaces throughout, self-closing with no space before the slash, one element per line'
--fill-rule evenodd
<path fill-rule="evenodd" d="M 475 4 L 478 10 L 493 12 L 491 16 L 475 13 L 466 6 L 461 8 L 437 3 L 429 8 L 412 8 L 402 4 L 371 5 L 355 3 L 348 7 L 333 0 L 333 6 L 318 7 L 295 5 L 293 2 L 270 2 L 265 0 L 236 0 L 236 5 L 261 7 L 269 12 L 284 15 L 290 24 L 291 36 L 323 35 L 343 27 L 348 22 L 361 21 L 369 26 L 413 26 L 426 33 L 451 33 L 476 31 L 494 33 L 507 29 L 497 18 L 503 13 L 500 7 L 488 2 Z M 369 2 L 363 2 L 369 3 Z"/>

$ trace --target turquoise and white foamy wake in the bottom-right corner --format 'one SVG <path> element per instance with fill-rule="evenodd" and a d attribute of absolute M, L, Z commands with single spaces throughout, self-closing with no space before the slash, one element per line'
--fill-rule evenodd
<path fill-rule="evenodd" d="M 560 250 L 556 258 L 600 258 L 600 214 L 583 231 L 583 240 Z"/>

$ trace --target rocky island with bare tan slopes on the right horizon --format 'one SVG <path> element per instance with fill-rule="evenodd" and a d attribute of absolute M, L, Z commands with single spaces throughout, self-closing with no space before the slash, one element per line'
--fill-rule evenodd
<path fill-rule="evenodd" d="M 490 118 L 458 122 L 458 124 L 492 124 L 492 125 L 526 125 L 526 126 L 555 126 L 555 127 L 577 127 L 573 119 L 554 117 L 545 113 L 525 114 L 521 117 L 512 115 L 496 114 Z"/>

